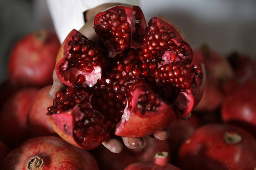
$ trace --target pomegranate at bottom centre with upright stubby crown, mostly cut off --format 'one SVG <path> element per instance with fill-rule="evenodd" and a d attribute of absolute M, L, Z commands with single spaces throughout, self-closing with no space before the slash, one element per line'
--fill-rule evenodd
<path fill-rule="evenodd" d="M 180 170 L 177 166 L 168 164 L 168 152 L 158 152 L 154 162 L 137 162 L 130 164 L 124 170 Z"/>

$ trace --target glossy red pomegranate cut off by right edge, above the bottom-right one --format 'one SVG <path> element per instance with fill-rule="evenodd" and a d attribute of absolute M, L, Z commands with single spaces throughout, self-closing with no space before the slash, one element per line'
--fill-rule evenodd
<path fill-rule="evenodd" d="M 256 75 L 239 85 L 223 102 L 222 121 L 239 125 L 256 136 Z"/>

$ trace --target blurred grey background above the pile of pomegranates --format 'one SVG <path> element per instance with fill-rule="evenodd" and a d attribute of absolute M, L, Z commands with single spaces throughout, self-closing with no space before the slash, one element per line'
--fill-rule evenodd
<path fill-rule="evenodd" d="M 223 54 L 236 50 L 256 58 L 255 0 L 140 0 L 138 5 L 147 20 L 158 14 L 171 20 L 193 48 L 207 43 Z M 2 82 L 8 77 L 8 57 L 14 43 L 40 28 L 54 31 L 54 26 L 45 0 L 0 0 L 0 23 Z"/>

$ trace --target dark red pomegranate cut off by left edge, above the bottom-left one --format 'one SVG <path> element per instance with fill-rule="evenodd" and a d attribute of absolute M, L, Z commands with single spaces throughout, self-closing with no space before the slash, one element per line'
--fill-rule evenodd
<path fill-rule="evenodd" d="M 16 146 L 29 137 L 27 114 L 38 90 L 36 87 L 21 89 L 4 103 L 0 112 L 0 137 L 8 146 Z"/>

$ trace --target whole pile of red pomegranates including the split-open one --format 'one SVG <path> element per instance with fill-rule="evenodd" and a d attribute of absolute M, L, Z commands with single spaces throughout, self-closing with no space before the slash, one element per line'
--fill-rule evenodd
<path fill-rule="evenodd" d="M 253 57 L 192 49 L 138 6 L 108 8 L 93 24 L 97 41 L 73 29 L 62 44 L 48 30 L 15 43 L 0 85 L 1 169 L 256 168 Z M 156 139 L 164 129 L 169 138 Z M 146 145 L 102 145 L 123 137 Z"/>

